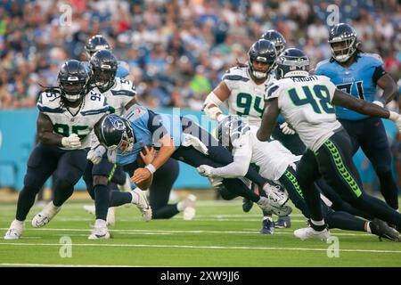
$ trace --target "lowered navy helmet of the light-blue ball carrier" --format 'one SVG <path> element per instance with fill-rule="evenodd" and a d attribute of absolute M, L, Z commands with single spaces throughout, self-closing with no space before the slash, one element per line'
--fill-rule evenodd
<path fill-rule="evenodd" d="M 134 131 L 127 118 L 116 114 L 104 116 L 94 126 L 94 134 L 109 150 L 132 151 L 135 142 Z"/>

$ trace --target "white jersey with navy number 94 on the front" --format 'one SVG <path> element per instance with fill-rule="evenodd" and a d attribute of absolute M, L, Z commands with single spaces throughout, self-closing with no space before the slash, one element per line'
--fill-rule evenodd
<path fill-rule="evenodd" d="M 248 67 L 228 69 L 223 76 L 223 81 L 230 90 L 228 113 L 247 118 L 252 126 L 260 126 L 265 109 L 265 88 L 274 80 L 274 75 L 269 74 L 264 83 L 257 85 L 250 77 Z"/>

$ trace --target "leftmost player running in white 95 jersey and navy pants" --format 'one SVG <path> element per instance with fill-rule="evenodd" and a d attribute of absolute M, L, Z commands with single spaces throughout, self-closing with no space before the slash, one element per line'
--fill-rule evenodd
<path fill-rule="evenodd" d="M 86 148 L 92 140 L 89 134 L 109 110 L 102 94 L 88 91 L 89 75 L 82 62 L 66 61 L 57 79 L 58 86 L 46 89 L 37 101 L 38 143 L 29 156 L 17 213 L 5 233 L 6 240 L 20 238 L 37 192 L 56 168 L 53 201 L 32 219 L 32 226 L 44 226 L 60 211 L 86 168 Z"/>

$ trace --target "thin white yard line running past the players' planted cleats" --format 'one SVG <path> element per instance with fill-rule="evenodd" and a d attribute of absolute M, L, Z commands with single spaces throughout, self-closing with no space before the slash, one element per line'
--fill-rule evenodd
<path fill-rule="evenodd" d="M 8 230 L 6 228 L 0 228 L 0 230 Z M 282 231 L 282 229 L 280 229 Z M 55 228 L 30 228 L 26 229 L 26 231 L 51 231 L 51 232 L 89 232 L 90 229 L 55 229 Z M 174 234 L 174 233 L 238 233 L 238 234 L 260 234 L 258 229 L 254 229 L 253 231 L 168 231 L 168 230 L 112 230 L 109 229 L 110 232 L 119 232 L 119 233 L 131 233 L 131 234 L 146 234 L 147 232 L 151 232 L 154 234 Z M 274 232 L 274 234 L 293 234 L 292 230 L 290 232 Z M 151 234 L 148 233 L 148 234 Z M 370 233 L 351 233 L 351 232 L 333 232 L 332 235 L 336 236 L 358 236 L 358 237 L 374 237 L 374 235 Z M 25 238 L 24 238 L 25 239 Z"/>

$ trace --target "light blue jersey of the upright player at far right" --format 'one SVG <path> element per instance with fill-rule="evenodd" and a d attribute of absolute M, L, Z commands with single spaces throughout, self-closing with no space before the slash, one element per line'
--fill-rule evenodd
<path fill-rule="evenodd" d="M 381 57 L 374 53 L 358 53 L 356 61 L 348 68 L 342 67 L 337 61 L 325 60 L 317 63 L 315 69 L 315 75 L 329 77 L 341 91 L 369 102 L 376 100 L 377 80 L 385 73 Z M 336 106 L 335 109 L 337 118 L 340 119 L 369 118 L 343 107 Z"/>

